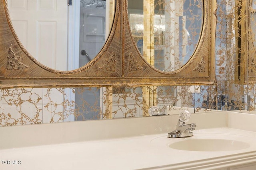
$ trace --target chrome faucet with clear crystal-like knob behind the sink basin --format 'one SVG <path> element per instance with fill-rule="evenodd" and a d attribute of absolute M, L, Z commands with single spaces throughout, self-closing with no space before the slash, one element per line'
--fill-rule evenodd
<path fill-rule="evenodd" d="M 186 122 L 190 119 L 190 112 L 187 110 L 182 110 L 180 112 L 180 117 L 176 125 L 176 129 L 168 133 L 167 137 L 178 138 L 178 137 L 190 137 L 193 136 L 191 131 L 195 130 L 196 124 L 191 123 L 186 125 Z"/>

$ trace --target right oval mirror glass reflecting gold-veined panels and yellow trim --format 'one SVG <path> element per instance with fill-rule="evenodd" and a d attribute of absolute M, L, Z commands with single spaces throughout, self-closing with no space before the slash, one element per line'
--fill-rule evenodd
<path fill-rule="evenodd" d="M 128 0 L 134 41 L 143 57 L 164 72 L 192 57 L 202 31 L 202 0 Z"/>

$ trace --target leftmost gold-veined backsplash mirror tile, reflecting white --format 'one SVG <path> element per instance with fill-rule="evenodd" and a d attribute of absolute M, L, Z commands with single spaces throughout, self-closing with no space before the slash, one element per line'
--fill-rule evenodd
<path fill-rule="evenodd" d="M 0 126 L 43 123 L 42 89 L 0 91 Z"/>

